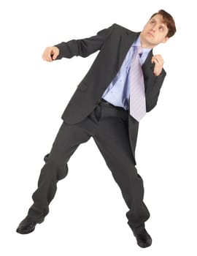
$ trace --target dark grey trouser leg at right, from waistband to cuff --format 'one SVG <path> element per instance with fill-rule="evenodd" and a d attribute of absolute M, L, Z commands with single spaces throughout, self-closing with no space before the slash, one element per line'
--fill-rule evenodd
<path fill-rule="evenodd" d="M 144 186 L 132 157 L 126 116 L 128 113 L 124 110 L 102 106 L 102 118 L 93 139 L 129 208 L 126 213 L 128 225 L 131 229 L 140 231 L 150 213 L 143 202 Z"/>

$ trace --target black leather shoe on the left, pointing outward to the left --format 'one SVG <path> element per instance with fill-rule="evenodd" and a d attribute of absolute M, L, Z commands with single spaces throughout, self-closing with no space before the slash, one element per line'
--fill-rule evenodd
<path fill-rule="evenodd" d="M 20 234 L 28 234 L 34 231 L 36 224 L 40 224 L 42 222 L 44 222 L 44 219 L 41 219 L 39 221 L 35 221 L 34 219 L 31 219 L 31 217 L 27 216 L 25 219 L 22 220 L 22 222 L 20 222 L 20 224 L 18 225 L 18 229 L 16 230 L 16 232 L 20 233 Z"/>

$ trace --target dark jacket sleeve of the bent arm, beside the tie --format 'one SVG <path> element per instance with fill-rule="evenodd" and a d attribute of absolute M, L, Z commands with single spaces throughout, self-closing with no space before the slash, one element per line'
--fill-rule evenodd
<path fill-rule="evenodd" d="M 154 75 L 152 73 L 150 79 L 147 82 L 146 86 L 146 104 L 147 112 L 150 112 L 152 108 L 155 108 L 158 102 L 158 96 L 160 94 L 161 86 L 163 85 L 163 80 L 166 77 L 166 71 L 162 69 L 161 75 Z"/>

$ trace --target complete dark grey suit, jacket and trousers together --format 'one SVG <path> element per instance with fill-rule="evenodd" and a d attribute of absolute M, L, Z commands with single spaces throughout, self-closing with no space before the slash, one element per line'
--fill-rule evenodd
<path fill-rule="evenodd" d="M 68 173 L 69 158 L 77 146 L 90 137 L 94 138 L 130 208 L 127 213 L 128 224 L 131 228 L 142 229 L 150 217 L 143 202 L 143 181 L 134 166 L 139 122 L 129 115 L 129 110 L 100 104 L 102 94 L 115 78 L 139 33 L 114 23 L 108 29 L 99 31 L 96 36 L 55 45 L 60 50 L 57 59 L 87 57 L 100 51 L 61 116 L 63 124 L 50 154 L 44 158 L 45 165 L 39 176 L 38 189 L 32 196 L 34 205 L 28 211 L 31 217 L 41 219 L 47 215 L 48 205 L 57 189 L 56 183 Z M 153 74 L 154 64 L 151 59 L 152 50 L 142 65 L 147 112 L 157 104 L 166 76 L 164 69 L 159 76 Z"/>

